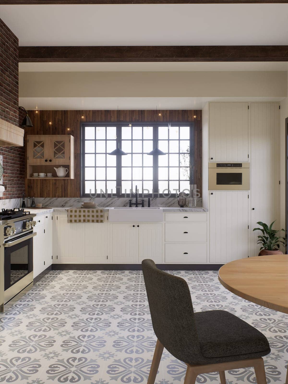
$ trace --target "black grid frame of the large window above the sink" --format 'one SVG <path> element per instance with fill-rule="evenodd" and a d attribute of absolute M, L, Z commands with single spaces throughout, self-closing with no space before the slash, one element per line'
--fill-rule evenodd
<path fill-rule="evenodd" d="M 193 184 L 193 157 L 194 157 L 194 122 L 132 122 L 132 123 L 129 123 L 129 122 L 82 122 L 80 125 L 80 131 L 81 131 L 81 197 L 90 197 L 90 194 L 85 194 L 83 193 L 84 190 L 85 190 L 85 178 L 84 178 L 84 175 L 85 175 L 85 127 L 95 127 L 96 125 L 97 126 L 105 126 L 105 127 L 116 127 L 116 141 L 119 142 L 120 144 L 120 148 L 122 147 L 121 144 L 122 144 L 122 135 L 121 135 L 121 128 L 124 127 L 124 126 L 128 126 L 129 124 L 132 124 L 132 127 L 147 127 L 147 126 L 152 126 L 153 127 L 153 148 L 155 148 L 156 146 L 156 143 L 158 142 L 158 128 L 159 127 L 181 127 L 181 126 L 189 126 L 190 128 L 190 132 L 189 132 L 189 148 L 190 148 L 190 152 L 189 152 L 189 184 Z M 131 129 L 132 129 L 131 127 Z M 143 136 L 142 136 L 143 137 Z M 96 146 L 96 139 L 95 140 L 95 146 Z M 142 139 L 138 139 L 139 141 L 141 140 L 143 142 L 143 138 Z M 177 139 L 174 139 L 175 141 Z M 106 139 L 105 139 L 105 142 L 107 141 L 107 135 L 106 135 Z M 168 143 L 169 143 L 170 139 L 168 139 Z M 178 139 L 179 141 L 179 146 L 180 146 L 180 139 Z M 169 145 L 169 144 L 168 144 Z M 143 148 L 143 144 L 142 144 L 142 148 Z M 96 155 L 96 149 L 95 149 L 95 155 Z M 109 156 L 109 155 L 107 155 Z M 167 156 L 169 156 L 167 154 Z M 143 164 L 142 164 L 142 182 L 143 182 Z M 150 167 L 150 166 L 149 166 Z M 153 193 L 150 193 L 150 194 L 142 194 L 142 193 L 139 193 L 139 196 L 142 197 L 142 195 L 144 197 L 168 197 L 168 191 L 167 191 L 167 194 L 158 194 L 157 193 L 157 190 L 158 190 L 158 185 L 159 185 L 159 166 L 158 166 L 158 156 L 153 156 Z M 169 158 L 168 158 L 168 165 L 167 165 L 168 169 L 169 169 Z M 95 168 L 96 168 L 96 164 L 95 164 Z M 106 174 L 106 168 L 107 168 L 107 165 L 105 166 L 105 174 Z M 132 163 L 131 163 L 131 168 L 132 168 Z M 180 168 L 180 147 L 179 147 L 179 168 Z M 180 171 L 180 169 L 179 169 Z M 122 172 L 122 156 L 116 156 L 116 193 L 109 193 L 109 194 L 91 194 L 93 197 L 129 197 L 130 196 L 130 192 L 127 191 L 126 194 L 125 193 L 122 193 L 120 194 L 119 192 L 119 186 L 122 185 L 122 178 L 121 178 L 121 172 Z M 106 177 L 106 181 L 107 181 L 107 177 Z M 109 180 L 108 180 L 109 181 Z M 145 180 L 144 180 L 145 181 Z M 119 184 L 118 184 L 119 183 Z M 179 181 L 179 185 L 180 185 L 180 181 Z M 168 188 L 169 188 L 169 180 L 168 180 Z M 133 191 L 135 192 L 135 191 Z M 171 191 L 172 192 L 172 191 Z M 186 191 L 187 192 L 187 191 Z M 177 197 L 177 194 L 176 193 L 171 193 L 169 194 L 169 197 Z"/>

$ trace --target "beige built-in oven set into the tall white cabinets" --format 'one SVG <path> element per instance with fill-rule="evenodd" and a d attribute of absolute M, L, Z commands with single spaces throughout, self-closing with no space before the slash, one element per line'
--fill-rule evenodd
<path fill-rule="evenodd" d="M 250 190 L 250 163 L 209 162 L 209 190 Z"/>

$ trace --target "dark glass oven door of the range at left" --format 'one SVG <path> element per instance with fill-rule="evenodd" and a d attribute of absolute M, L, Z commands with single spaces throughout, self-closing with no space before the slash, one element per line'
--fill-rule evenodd
<path fill-rule="evenodd" d="M 4 290 L 7 290 L 33 271 L 33 237 L 4 249 Z"/>

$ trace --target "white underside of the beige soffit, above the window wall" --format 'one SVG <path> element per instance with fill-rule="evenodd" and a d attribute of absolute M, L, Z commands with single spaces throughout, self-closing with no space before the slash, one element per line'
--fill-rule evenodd
<path fill-rule="evenodd" d="M 280 101 L 277 98 L 185 98 L 185 97 L 132 97 L 132 98 L 19 98 L 19 105 L 28 110 L 70 109 L 203 109 L 208 101 Z"/>

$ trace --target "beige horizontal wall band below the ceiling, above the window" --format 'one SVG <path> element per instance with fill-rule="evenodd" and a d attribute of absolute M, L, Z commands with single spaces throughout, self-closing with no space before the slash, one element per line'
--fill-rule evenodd
<path fill-rule="evenodd" d="M 19 97 L 285 97 L 286 71 L 20 72 Z"/>

